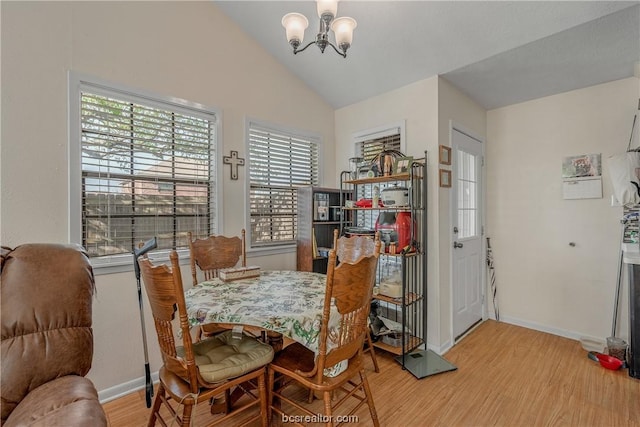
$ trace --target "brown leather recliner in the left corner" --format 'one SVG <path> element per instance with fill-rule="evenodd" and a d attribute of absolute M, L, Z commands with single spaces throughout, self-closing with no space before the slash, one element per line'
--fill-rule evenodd
<path fill-rule="evenodd" d="M 80 246 L 2 248 L 2 417 L 10 426 L 106 426 L 93 383 L 93 270 Z"/>

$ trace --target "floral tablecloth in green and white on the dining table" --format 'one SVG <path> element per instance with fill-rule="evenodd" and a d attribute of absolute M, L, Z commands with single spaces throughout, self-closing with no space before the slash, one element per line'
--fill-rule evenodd
<path fill-rule="evenodd" d="M 318 353 L 326 275 L 303 271 L 262 271 L 260 277 L 202 282 L 185 292 L 191 325 L 234 323 L 279 332 Z M 339 327 L 329 321 L 328 347 Z"/>

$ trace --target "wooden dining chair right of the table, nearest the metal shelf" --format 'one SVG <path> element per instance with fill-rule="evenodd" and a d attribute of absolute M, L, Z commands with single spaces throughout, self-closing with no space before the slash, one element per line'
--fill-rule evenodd
<path fill-rule="evenodd" d="M 373 425 L 380 425 L 362 360 L 379 251 L 380 242 L 377 241 L 372 255 L 361 256 L 353 262 L 344 260 L 336 266 L 336 251 L 331 249 L 318 341 L 319 352 L 315 355 L 296 342 L 276 354 L 268 368 L 270 413 L 291 415 L 284 412 L 286 405 L 288 409 L 317 416 L 285 393 L 289 386 L 299 383 L 322 395 L 327 426 L 334 425 L 334 411 L 351 397 L 358 402 L 348 415 L 353 415 L 362 405 L 367 404 Z M 329 330 L 332 307 L 336 307 L 339 315 L 337 330 Z M 344 360 L 348 361 L 348 366 L 343 372 L 333 377 L 325 375 L 325 368 L 331 368 Z M 336 396 L 334 401 L 332 395 L 341 392 L 344 396 Z"/>

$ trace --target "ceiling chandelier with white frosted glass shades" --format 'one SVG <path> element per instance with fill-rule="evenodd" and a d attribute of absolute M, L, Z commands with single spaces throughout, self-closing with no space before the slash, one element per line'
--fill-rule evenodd
<path fill-rule="evenodd" d="M 353 30 L 356 28 L 356 20 L 353 18 L 336 18 L 338 13 L 338 0 L 317 0 L 318 17 L 320 18 L 320 31 L 316 39 L 302 49 L 298 49 L 304 39 L 304 30 L 309 26 L 309 21 L 301 13 L 287 13 L 282 18 L 282 26 L 287 32 L 287 41 L 293 47 L 293 53 L 302 52 L 312 44 L 320 48 L 324 53 L 325 48 L 331 46 L 336 53 L 343 58 L 347 57 L 347 49 L 353 41 Z M 334 19 L 335 18 L 335 19 Z M 335 34 L 336 44 L 329 41 L 329 29 Z M 336 47 L 338 45 L 338 47 Z M 338 48 L 340 50 L 338 50 Z"/>

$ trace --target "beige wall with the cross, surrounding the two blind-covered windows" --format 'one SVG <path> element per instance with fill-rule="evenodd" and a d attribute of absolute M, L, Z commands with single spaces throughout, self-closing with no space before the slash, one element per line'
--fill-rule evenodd
<path fill-rule="evenodd" d="M 3 245 L 69 241 L 69 70 L 220 109 L 224 154 L 246 156 L 247 116 L 317 132 L 325 144 L 324 176 L 335 175 L 332 108 L 212 2 L 0 5 Z M 237 181 L 227 167 L 223 172 L 221 232 L 237 234 L 245 224 L 245 170 Z M 295 269 L 295 253 L 249 258 L 263 268 Z M 108 398 L 143 384 L 144 359 L 133 273 L 96 282 L 89 377 Z M 155 371 L 160 357 L 149 312 L 146 320 Z"/>

